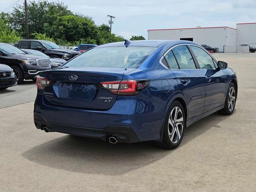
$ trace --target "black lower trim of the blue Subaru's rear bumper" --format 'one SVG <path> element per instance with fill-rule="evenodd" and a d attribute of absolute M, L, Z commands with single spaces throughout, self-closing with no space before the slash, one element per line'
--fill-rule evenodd
<path fill-rule="evenodd" d="M 106 141 L 110 136 L 116 136 L 118 142 L 133 143 L 138 142 L 138 138 L 129 126 L 106 126 L 103 129 L 95 129 L 80 126 L 68 126 L 47 122 L 43 117 L 34 115 L 36 128 L 43 129 L 46 125 L 50 132 L 60 132 L 71 135 L 98 138 Z"/>

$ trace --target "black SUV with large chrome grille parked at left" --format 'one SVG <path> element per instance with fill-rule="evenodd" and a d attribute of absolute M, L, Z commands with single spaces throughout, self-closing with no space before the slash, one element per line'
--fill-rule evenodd
<path fill-rule="evenodd" d="M 40 71 L 51 69 L 48 58 L 29 55 L 10 44 L 0 43 L 0 61 L 10 66 L 16 75 L 18 84 L 24 79 L 34 78 Z"/>

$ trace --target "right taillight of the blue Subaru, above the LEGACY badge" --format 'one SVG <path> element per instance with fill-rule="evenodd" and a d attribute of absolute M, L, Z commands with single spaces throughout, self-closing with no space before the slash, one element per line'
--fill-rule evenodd
<path fill-rule="evenodd" d="M 149 80 L 102 82 L 101 86 L 115 95 L 136 95 L 149 85 Z"/>

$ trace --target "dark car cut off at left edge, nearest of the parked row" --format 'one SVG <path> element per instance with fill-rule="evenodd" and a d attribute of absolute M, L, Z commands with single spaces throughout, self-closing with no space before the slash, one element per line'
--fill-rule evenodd
<path fill-rule="evenodd" d="M 0 64 L 0 90 L 16 85 L 14 71 L 7 65 Z"/>

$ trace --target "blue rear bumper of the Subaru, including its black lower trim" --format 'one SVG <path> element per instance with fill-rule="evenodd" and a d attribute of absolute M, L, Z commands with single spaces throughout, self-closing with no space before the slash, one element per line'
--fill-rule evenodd
<path fill-rule="evenodd" d="M 40 91 L 39 91 L 40 92 Z M 52 132 L 88 136 L 106 140 L 114 134 L 120 142 L 161 140 L 165 105 L 143 99 L 120 96 L 109 110 L 86 110 L 52 106 L 38 94 L 34 104 L 34 122 Z"/>

